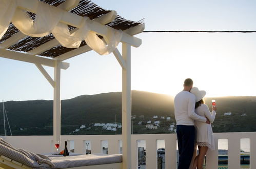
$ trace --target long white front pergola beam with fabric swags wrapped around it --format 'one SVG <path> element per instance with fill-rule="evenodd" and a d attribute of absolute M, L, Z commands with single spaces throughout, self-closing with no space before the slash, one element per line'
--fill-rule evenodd
<path fill-rule="evenodd" d="M 41 1 L 34 1 L 34 0 L 19 0 L 17 2 L 18 2 L 17 3 L 18 8 L 25 9 L 32 13 L 36 13 L 38 4 L 43 3 Z M 56 7 L 50 6 L 50 8 L 56 8 Z M 67 24 L 67 25 L 74 26 L 76 28 L 81 27 L 81 23 L 82 23 L 82 19 L 83 19 L 82 16 L 73 14 L 71 12 L 67 12 L 65 10 L 63 12 L 64 12 L 64 14 L 63 14 L 63 17 L 60 20 L 60 22 Z M 107 34 L 109 29 L 113 29 L 113 28 L 110 28 L 105 25 L 102 25 L 102 24 L 92 21 L 91 30 L 96 32 L 97 34 L 104 36 Z M 123 33 L 121 41 L 123 43 L 130 44 L 133 47 L 139 47 L 142 43 L 141 39 L 133 37 L 125 32 Z"/>

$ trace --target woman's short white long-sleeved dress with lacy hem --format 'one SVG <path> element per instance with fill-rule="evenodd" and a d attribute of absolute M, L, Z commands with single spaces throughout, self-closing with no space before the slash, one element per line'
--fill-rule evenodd
<path fill-rule="evenodd" d="M 195 109 L 195 113 L 207 117 L 212 123 L 215 119 L 216 112 L 213 110 L 210 112 L 206 104 L 201 104 Z M 212 136 L 211 124 L 195 121 L 196 129 L 196 144 L 199 146 L 208 146 L 211 150 L 215 149 L 214 140 Z"/>

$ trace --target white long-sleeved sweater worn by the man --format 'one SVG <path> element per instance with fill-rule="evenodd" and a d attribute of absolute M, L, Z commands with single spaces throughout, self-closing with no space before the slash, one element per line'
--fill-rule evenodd
<path fill-rule="evenodd" d="M 176 125 L 194 125 L 194 120 L 206 122 L 206 118 L 194 112 L 195 96 L 188 91 L 181 91 L 174 98 Z"/>

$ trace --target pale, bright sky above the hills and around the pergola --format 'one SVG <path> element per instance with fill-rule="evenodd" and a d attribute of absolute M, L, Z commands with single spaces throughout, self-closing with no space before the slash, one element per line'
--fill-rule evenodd
<path fill-rule="evenodd" d="M 126 19 L 145 18 L 145 30 L 256 30 L 256 1 L 92 0 Z M 131 50 L 131 89 L 174 96 L 186 78 L 206 97 L 256 96 L 256 33 L 141 33 Z M 118 47 L 120 49 L 120 46 Z M 66 60 L 61 99 L 122 91 L 113 54 L 90 51 Z M 53 68 L 45 67 L 53 77 Z M 35 65 L 0 57 L 0 99 L 53 99 Z"/>

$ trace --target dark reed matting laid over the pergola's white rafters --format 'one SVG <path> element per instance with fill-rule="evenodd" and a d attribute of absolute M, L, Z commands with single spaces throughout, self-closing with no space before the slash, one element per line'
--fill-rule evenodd
<path fill-rule="evenodd" d="M 40 0 L 41 2 L 47 3 L 52 6 L 58 6 L 65 2 L 65 0 Z M 80 16 L 88 16 L 90 19 L 95 19 L 97 17 L 100 17 L 108 12 L 110 10 L 105 10 L 96 4 L 92 3 L 89 0 L 81 0 L 80 3 L 78 4 L 77 7 L 73 8 L 71 13 L 80 15 Z M 35 17 L 35 14 L 29 13 L 32 18 Z M 131 27 L 137 26 L 143 24 L 143 20 L 140 22 L 134 22 L 131 20 L 126 20 L 125 18 L 117 15 L 115 19 L 106 24 L 106 26 L 112 27 L 114 29 L 121 29 L 121 30 L 126 30 Z M 74 29 L 74 27 L 69 26 L 69 30 Z M 0 44 L 2 44 L 5 40 L 10 38 L 12 35 L 17 33 L 19 30 L 11 23 L 9 25 L 9 28 L 5 35 L 0 39 Z M 8 49 L 13 50 L 13 51 L 20 51 L 20 52 L 28 52 L 30 50 L 33 50 L 36 47 L 39 47 L 48 41 L 54 39 L 54 36 L 52 34 L 49 34 L 44 37 L 31 37 L 31 36 L 26 36 L 25 38 L 19 40 L 17 43 L 13 44 L 10 46 Z M 80 47 L 85 46 L 86 43 L 83 40 Z M 61 45 L 57 45 L 47 51 L 44 51 L 43 53 L 40 53 L 38 55 L 40 56 L 46 56 L 46 57 L 57 57 L 59 55 L 62 55 L 66 52 L 69 52 L 71 50 L 74 50 L 75 48 L 65 48 Z"/>

